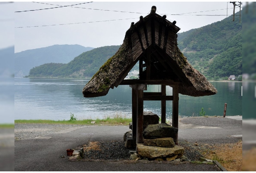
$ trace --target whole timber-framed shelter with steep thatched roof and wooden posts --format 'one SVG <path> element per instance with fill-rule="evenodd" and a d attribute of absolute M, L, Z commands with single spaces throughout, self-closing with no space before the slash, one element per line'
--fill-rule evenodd
<path fill-rule="evenodd" d="M 179 93 L 189 96 L 206 96 L 217 89 L 194 69 L 177 46 L 176 21 L 166 20 L 166 15 L 151 13 L 126 31 L 123 44 L 83 88 L 84 97 L 104 96 L 118 85 L 132 88 L 132 136 L 143 143 L 143 101 L 161 101 L 161 123 L 166 122 L 166 101 L 172 101 L 172 126 L 178 128 Z M 139 61 L 139 79 L 124 80 Z M 161 92 L 143 92 L 147 85 L 161 85 Z M 166 86 L 173 88 L 166 96 Z M 178 144 L 178 133 L 174 138 Z"/>

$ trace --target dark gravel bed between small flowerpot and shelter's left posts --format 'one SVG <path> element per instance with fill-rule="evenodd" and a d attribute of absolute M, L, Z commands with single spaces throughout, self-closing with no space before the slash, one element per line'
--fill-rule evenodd
<path fill-rule="evenodd" d="M 123 141 L 98 141 L 100 150 L 84 151 L 84 159 L 128 160 L 131 149 L 125 148 L 124 143 Z"/>

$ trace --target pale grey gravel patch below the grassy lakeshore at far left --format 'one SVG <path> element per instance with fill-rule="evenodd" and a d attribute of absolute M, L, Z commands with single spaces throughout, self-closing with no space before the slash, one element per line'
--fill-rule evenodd
<path fill-rule="evenodd" d="M 14 124 L 14 139 L 34 139 L 37 136 L 47 136 L 61 130 L 84 125 L 66 124 Z"/>

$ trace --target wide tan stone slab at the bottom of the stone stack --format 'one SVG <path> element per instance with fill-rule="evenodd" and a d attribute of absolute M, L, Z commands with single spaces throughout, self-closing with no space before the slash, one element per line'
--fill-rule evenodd
<path fill-rule="evenodd" d="M 172 148 L 145 146 L 142 143 L 137 144 L 137 153 L 145 158 L 168 158 L 178 155 L 178 158 L 184 153 L 184 148 L 175 145 Z"/>

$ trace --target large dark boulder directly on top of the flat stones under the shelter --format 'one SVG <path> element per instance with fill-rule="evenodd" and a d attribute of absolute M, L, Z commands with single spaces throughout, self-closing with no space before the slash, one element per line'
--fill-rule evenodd
<path fill-rule="evenodd" d="M 178 128 L 175 128 L 166 123 L 150 124 L 143 131 L 144 139 L 155 139 L 163 137 L 174 138 L 178 133 Z"/>

